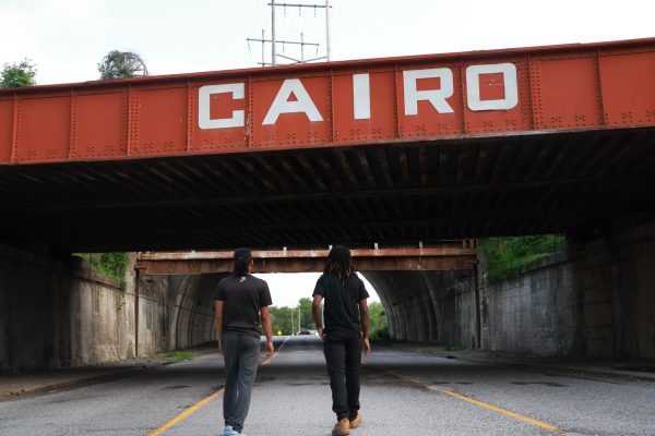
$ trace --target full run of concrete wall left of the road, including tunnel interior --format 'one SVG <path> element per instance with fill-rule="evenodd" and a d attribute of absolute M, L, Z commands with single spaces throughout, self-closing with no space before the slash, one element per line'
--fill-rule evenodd
<path fill-rule="evenodd" d="M 79 257 L 53 259 L 0 244 L 0 372 L 133 358 L 129 271 L 121 289 Z M 211 289 L 200 278 L 141 277 L 139 288 L 140 355 L 213 339 Z"/>

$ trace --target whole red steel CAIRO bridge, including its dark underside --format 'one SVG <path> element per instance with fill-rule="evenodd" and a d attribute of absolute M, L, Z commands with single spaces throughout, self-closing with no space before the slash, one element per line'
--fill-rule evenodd
<path fill-rule="evenodd" d="M 0 240 L 602 231 L 655 213 L 655 38 L 0 89 Z"/>

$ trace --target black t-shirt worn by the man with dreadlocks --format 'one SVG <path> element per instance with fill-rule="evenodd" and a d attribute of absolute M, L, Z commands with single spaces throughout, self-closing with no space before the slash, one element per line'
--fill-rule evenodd
<path fill-rule="evenodd" d="M 368 299 L 364 281 L 356 274 L 342 281 L 330 272 L 319 277 L 313 294 L 325 299 L 323 318 L 325 331 L 352 330 L 361 332 L 359 302 Z"/>

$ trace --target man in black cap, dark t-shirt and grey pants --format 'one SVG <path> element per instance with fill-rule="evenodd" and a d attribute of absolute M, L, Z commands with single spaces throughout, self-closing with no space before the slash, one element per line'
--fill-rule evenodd
<path fill-rule="evenodd" d="M 225 356 L 224 436 L 240 435 L 248 415 L 259 365 L 260 318 L 266 335 L 266 354 L 274 351 L 269 284 L 250 275 L 250 250 L 236 250 L 234 262 L 234 274 L 221 280 L 214 295 L 218 352 Z"/>

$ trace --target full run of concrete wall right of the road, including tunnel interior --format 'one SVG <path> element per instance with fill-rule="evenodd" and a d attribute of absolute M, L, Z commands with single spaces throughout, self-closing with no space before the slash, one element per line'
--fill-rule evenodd
<path fill-rule="evenodd" d="M 364 275 L 394 339 L 480 343 L 535 356 L 655 360 L 655 222 L 569 241 L 567 253 L 499 283 L 486 284 L 484 269 L 481 259 L 478 295 L 473 270 Z"/>

